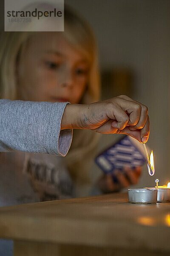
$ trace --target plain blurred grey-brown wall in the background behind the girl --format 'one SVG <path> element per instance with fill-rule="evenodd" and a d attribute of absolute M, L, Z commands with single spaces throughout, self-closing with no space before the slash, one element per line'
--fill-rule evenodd
<path fill-rule="evenodd" d="M 114 89 L 115 83 L 107 79 L 107 72 L 122 70 L 127 80 L 126 74 L 130 75 L 130 90 L 128 93 L 125 87 L 121 93 L 133 96 L 149 108 L 151 131 L 147 145 L 155 154 L 156 175 L 150 177 L 144 166 L 138 187 L 153 186 L 156 177 L 160 184 L 167 183 L 170 181 L 170 0 L 65 0 L 65 3 L 84 16 L 96 34 L 101 72 L 105 74 L 102 98 L 119 93 Z M 102 136 L 98 151 L 117 139 L 118 135 Z M 95 165 L 93 169 L 95 175 L 101 172 Z"/>

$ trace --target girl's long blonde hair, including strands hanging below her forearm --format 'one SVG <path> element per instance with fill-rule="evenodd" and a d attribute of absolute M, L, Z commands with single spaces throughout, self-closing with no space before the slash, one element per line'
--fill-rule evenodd
<path fill-rule="evenodd" d="M 70 44 L 87 56 L 91 63 L 87 89 L 79 103 L 99 100 L 100 79 L 97 47 L 91 28 L 76 12 L 65 6 L 65 31 L 63 35 Z M 16 63 L 28 39 L 36 32 L 2 32 L 0 37 L 0 98 L 18 99 Z M 43 32 L 42 32 L 43 33 Z M 48 33 L 48 32 L 47 32 Z M 79 170 L 79 163 L 91 155 L 97 143 L 97 134 L 91 131 L 74 131 L 71 149 L 65 160 L 71 175 L 77 180 L 87 180 L 86 171 Z M 76 167 L 78 166 L 78 167 Z M 82 168 L 81 168 L 82 169 Z"/>

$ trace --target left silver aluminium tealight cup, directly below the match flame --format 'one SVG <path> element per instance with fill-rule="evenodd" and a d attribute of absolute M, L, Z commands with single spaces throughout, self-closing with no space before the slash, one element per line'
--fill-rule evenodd
<path fill-rule="evenodd" d="M 143 188 L 143 189 L 128 189 L 129 203 L 133 204 L 156 204 L 157 189 Z"/>

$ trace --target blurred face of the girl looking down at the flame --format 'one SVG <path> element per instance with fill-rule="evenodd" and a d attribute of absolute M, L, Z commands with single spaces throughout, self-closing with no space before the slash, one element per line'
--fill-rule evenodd
<path fill-rule="evenodd" d="M 89 63 L 62 32 L 32 36 L 17 62 L 19 99 L 78 103 L 88 82 Z"/>

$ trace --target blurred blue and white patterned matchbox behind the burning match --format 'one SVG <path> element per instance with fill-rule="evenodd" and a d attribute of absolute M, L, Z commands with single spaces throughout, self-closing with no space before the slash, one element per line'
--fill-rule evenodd
<path fill-rule="evenodd" d="M 96 164 L 106 174 L 125 167 L 135 169 L 146 163 L 143 146 L 137 140 L 125 136 L 95 158 Z"/>

